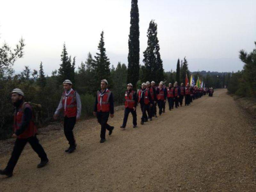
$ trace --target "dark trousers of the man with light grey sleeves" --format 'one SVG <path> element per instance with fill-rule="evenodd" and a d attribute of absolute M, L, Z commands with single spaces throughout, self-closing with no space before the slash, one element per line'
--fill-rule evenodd
<path fill-rule="evenodd" d="M 76 124 L 76 117 L 64 117 L 64 133 L 70 146 L 76 144 L 73 129 Z"/>

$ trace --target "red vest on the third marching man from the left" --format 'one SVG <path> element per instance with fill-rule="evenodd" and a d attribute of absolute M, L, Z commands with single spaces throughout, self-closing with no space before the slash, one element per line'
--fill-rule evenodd
<path fill-rule="evenodd" d="M 109 97 L 110 97 L 111 91 L 107 90 L 103 95 L 101 95 L 100 91 L 97 91 L 97 98 L 98 98 L 98 104 L 97 104 L 97 111 L 100 112 L 109 112 L 110 111 L 110 103 L 109 103 Z M 101 99 L 101 101 L 100 101 Z"/>

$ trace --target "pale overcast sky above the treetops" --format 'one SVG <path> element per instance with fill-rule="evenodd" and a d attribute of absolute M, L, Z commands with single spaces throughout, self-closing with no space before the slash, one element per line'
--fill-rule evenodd
<path fill-rule="evenodd" d="M 97 52 L 102 30 L 111 64 L 127 65 L 131 0 L 0 0 L 0 5 L 0 45 L 25 39 L 16 72 L 25 65 L 38 69 L 42 61 L 50 75 L 59 68 L 64 42 L 78 67 L 88 52 Z M 158 24 L 165 71 L 176 70 L 177 59 L 184 56 L 190 71 L 241 70 L 239 50 L 254 48 L 255 0 L 138 0 L 138 5 L 140 64 L 151 19 Z"/>

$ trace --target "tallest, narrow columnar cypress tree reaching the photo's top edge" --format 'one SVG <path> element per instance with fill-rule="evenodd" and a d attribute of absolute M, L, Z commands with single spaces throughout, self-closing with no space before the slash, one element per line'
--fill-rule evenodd
<path fill-rule="evenodd" d="M 138 0 L 132 0 L 130 20 L 130 35 L 128 40 L 128 75 L 127 83 L 132 83 L 136 90 L 136 84 L 140 75 L 140 30 Z"/>

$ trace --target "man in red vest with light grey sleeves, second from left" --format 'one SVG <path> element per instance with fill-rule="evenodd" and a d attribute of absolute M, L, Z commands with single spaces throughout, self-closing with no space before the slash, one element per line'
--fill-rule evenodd
<path fill-rule="evenodd" d="M 73 129 L 76 121 L 81 115 L 81 99 L 79 94 L 72 89 L 72 82 L 65 80 L 63 82 L 64 92 L 62 93 L 59 106 L 57 107 L 53 118 L 56 120 L 60 110 L 63 110 L 64 116 L 64 134 L 68 140 L 69 147 L 65 150 L 67 153 L 73 153 L 76 149 L 76 140 L 74 138 Z"/>

